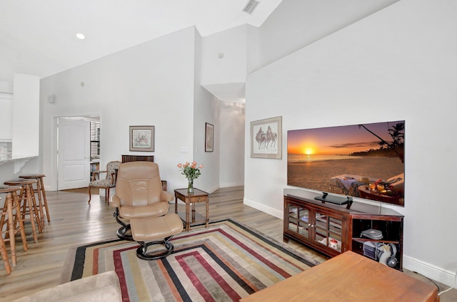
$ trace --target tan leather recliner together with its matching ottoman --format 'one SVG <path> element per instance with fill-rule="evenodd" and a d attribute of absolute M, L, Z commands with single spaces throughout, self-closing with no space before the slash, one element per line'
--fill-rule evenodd
<path fill-rule="evenodd" d="M 137 241 L 140 246 L 136 249 L 136 256 L 139 258 L 154 260 L 174 251 L 169 241 L 181 233 L 183 223 L 178 214 L 167 214 L 169 202 L 173 199 L 172 194 L 162 191 L 156 163 L 125 162 L 119 167 L 116 194 L 110 200 L 110 204 L 116 207 L 114 217 L 122 226 L 117 236 Z M 121 219 L 129 220 L 129 224 Z M 163 245 L 165 251 L 148 253 L 148 246 L 155 244 Z"/>

